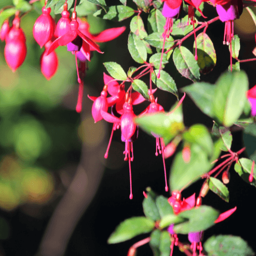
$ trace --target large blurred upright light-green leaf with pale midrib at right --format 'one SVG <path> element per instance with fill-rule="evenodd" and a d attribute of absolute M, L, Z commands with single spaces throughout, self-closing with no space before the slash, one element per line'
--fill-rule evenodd
<path fill-rule="evenodd" d="M 215 116 L 224 126 L 231 126 L 242 114 L 247 90 L 248 79 L 243 71 L 225 73 L 218 79 L 213 107 Z"/>

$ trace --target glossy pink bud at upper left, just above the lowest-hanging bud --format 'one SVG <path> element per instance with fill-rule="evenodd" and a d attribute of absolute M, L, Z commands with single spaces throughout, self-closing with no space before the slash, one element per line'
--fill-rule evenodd
<path fill-rule="evenodd" d="M 51 8 L 42 7 L 42 14 L 36 19 L 33 27 L 34 38 L 41 48 L 51 40 L 54 33 L 55 22 L 50 12 Z"/>

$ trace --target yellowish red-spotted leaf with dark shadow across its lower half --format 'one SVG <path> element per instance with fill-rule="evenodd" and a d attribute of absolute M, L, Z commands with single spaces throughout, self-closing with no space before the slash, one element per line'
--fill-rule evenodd
<path fill-rule="evenodd" d="M 194 54 L 196 53 L 196 42 L 194 42 Z M 216 66 L 216 51 L 214 44 L 206 33 L 197 36 L 197 56 L 200 72 L 207 74 Z"/>

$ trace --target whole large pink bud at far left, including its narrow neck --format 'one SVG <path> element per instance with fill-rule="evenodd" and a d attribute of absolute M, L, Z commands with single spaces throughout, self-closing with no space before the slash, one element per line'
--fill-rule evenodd
<path fill-rule="evenodd" d="M 20 19 L 16 16 L 9 34 L 5 36 L 5 59 L 13 72 L 22 65 L 27 54 L 26 37 L 19 27 L 19 22 Z"/>

